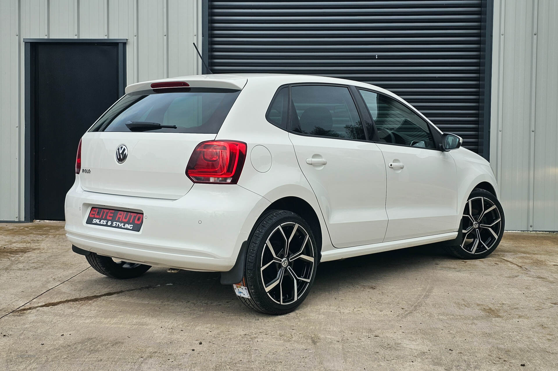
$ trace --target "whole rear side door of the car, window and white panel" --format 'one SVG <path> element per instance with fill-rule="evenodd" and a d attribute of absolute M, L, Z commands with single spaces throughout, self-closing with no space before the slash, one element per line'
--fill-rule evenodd
<path fill-rule="evenodd" d="M 383 241 L 386 168 L 347 86 L 291 86 L 291 133 L 335 247 Z"/>

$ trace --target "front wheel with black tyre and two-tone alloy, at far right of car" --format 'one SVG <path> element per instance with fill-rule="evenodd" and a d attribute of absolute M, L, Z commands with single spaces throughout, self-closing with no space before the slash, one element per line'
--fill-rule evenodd
<path fill-rule="evenodd" d="M 504 211 L 494 194 L 474 189 L 461 219 L 458 238 L 446 245 L 448 252 L 461 259 L 480 259 L 498 247 L 504 235 Z"/>

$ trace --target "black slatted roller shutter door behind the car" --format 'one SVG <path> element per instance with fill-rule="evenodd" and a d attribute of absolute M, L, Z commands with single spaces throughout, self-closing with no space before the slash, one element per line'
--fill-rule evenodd
<path fill-rule="evenodd" d="M 481 6 L 481 0 L 210 1 L 210 68 L 378 85 L 478 152 Z"/>

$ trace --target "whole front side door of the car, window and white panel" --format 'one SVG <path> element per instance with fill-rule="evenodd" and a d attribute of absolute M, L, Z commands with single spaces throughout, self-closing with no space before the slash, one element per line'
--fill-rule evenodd
<path fill-rule="evenodd" d="M 448 152 L 436 149 L 432 128 L 403 102 L 359 90 L 378 130 L 386 163 L 384 241 L 454 232 L 457 170 Z"/>

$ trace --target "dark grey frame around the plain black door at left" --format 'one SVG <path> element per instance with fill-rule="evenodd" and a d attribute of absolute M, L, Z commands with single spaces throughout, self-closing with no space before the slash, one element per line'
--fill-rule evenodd
<path fill-rule="evenodd" d="M 24 149 L 24 214 L 23 222 L 35 219 L 35 89 L 37 75 L 37 45 L 116 45 L 118 68 L 118 94 L 124 95 L 126 89 L 126 38 L 24 38 L 25 45 L 25 149 Z"/>

